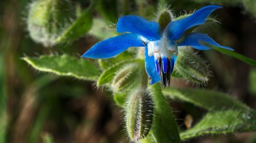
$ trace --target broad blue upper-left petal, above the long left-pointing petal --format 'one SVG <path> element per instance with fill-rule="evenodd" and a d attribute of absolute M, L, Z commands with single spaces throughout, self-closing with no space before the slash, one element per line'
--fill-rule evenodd
<path fill-rule="evenodd" d="M 116 26 L 118 33 L 130 32 L 141 35 L 147 40 L 155 41 L 161 38 L 160 26 L 155 21 L 148 21 L 140 16 L 126 15 L 119 18 Z"/>

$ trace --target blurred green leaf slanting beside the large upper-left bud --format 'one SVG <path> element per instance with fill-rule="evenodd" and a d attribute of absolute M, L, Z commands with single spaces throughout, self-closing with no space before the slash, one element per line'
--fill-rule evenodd
<path fill-rule="evenodd" d="M 92 11 L 85 10 L 81 16 L 74 21 L 74 23 L 62 35 L 55 39 L 56 43 L 65 43 L 67 41 L 74 41 L 90 30 L 92 26 Z"/>

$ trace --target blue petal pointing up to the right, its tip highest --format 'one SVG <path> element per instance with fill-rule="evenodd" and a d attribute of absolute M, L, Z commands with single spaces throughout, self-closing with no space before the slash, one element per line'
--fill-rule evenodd
<path fill-rule="evenodd" d="M 209 5 L 197 10 L 186 18 L 170 22 L 164 30 L 164 36 L 171 40 L 180 39 L 186 30 L 193 26 L 203 24 L 210 13 L 219 8 L 221 7 Z"/>

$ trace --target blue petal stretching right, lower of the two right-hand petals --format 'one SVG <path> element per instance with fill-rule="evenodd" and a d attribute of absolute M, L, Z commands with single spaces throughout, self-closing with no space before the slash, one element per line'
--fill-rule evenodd
<path fill-rule="evenodd" d="M 190 34 L 188 34 L 185 37 L 184 41 L 179 43 L 178 46 L 192 46 L 192 47 L 194 47 L 196 49 L 199 49 L 199 50 L 211 49 L 208 46 L 202 45 L 201 42 L 206 42 L 210 45 L 214 45 L 214 46 L 217 46 L 217 47 L 220 47 L 220 48 L 233 50 L 230 47 L 222 46 L 222 45 L 216 43 L 209 36 L 207 36 L 206 34 L 202 34 L 202 33 L 190 33 Z"/>

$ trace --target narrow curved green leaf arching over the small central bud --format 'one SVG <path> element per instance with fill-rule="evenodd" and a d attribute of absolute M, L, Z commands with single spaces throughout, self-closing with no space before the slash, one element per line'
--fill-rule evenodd
<path fill-rule="evenodd" d="M 121 69 L 125 64 L 129 64 L 129 63 L 136 63 L 136 62 L 140 62 L 141 59 L 133 59 L 133 60 L 127 60 L 127 61 L 123 61 L 120 62 L 112 67 L 110 67 L 109 69 L 105 70 L 99 77 L 97 85 L 103 85 L 105 83 L 111 82 L 115 76 L 115 73 Z"/>

